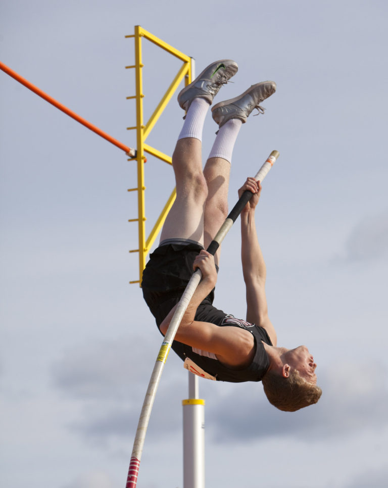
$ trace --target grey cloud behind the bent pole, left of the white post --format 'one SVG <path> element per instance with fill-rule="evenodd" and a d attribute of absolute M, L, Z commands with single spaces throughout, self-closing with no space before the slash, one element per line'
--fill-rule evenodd
<path fill-rule="evenodd" d="M 69 350 L 52 369 L 55 386 L 81 404 L 81 415 L 67 427 L 93 445 L 120 440 L 128 444 L 128 436 L 136 430 L 156 352 L 149 341 L 138 337 L 94 341 Z M 181 430 L 177 419 L 186 379 L 183 367 L 171 367 L 163 375 L 148 435 L 155 438 Z"/>

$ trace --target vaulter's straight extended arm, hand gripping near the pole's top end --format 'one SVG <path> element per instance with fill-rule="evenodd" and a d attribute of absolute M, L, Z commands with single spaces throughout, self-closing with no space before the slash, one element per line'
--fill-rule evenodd
<path fill-rule="evenodd" d="M 238 190 L 239 196 L 245 190 L 253 196 L 241 212 L 241 263 L 247 294 L 247 321 L 266 329 L 273 346 L 276 346 L 276 332 L 268 317 L 265 295 L 266 267 L 257 238 L 255 208 L 259 202 L 261 185 L 254 178 L 248 178 Z"/>

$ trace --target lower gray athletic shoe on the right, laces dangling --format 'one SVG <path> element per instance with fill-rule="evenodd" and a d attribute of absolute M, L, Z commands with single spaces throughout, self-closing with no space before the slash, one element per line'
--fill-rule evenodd
<path fill-rule="evenodd" d="M 222 127 L 230 119 L 239 119 L 243 124 L 253 109 L 264 114 L 264 108 L 259 104 L 275 93 L 276 83 L 274 81 L 263 81 L 252 85 L 248 90 L 234 99 L 220 102 L 212 108 L 212 117 L 219 127 Z"/>

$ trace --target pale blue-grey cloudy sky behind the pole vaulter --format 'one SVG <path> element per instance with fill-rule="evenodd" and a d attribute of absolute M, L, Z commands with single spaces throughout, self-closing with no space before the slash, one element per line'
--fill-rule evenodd
<path fill-rule="evenodd" d="M 3 0 L 0 60 L 130 147 L 134 26 L 191 56 L 237 61 L 215 102 L 277 91 L 239 133 L 229 203 L 269 153 L 257 212 L 278 345 L 306 344 L 323 390 L 295 413 L 261 383 L 200 381 L 206 486 L 382 488 L 388 441 L 386 2 Z M 144 118 L 179 62 L 143 42 Z M 183 83 L 182 83 L 183 86 Z M 172 154 L 176 97 L 147 142 Z M 205 123 L 203 155 L 217 126 Z M 125 485 L 162 336 L 138 279 L 136 168 L 114 145 L 0 71 L 1 485 Z M 149 233 L 174 187 L 146 164 Z M 215 306 L 245 315 L 239 225 L 223 243 Z M 182 488 L 187 371 L 169 355 L 139 488 Z M 236 463 L 235 461 L 238 460 Z"/>

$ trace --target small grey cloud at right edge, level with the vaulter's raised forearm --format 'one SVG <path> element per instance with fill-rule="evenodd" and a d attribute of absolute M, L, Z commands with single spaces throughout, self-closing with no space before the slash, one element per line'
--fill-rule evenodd
<path fill-rule="evenodd" d="M 343 260 L 372 261 L 388 256 L 388 211 L 361 220 L 351 231 Z"/>

